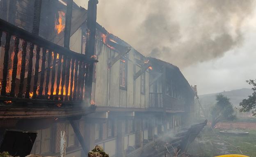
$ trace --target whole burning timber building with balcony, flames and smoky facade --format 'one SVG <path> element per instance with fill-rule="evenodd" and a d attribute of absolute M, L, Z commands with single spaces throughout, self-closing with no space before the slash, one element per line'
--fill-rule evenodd
<path fill-rule="evenodd" d="M 0 33 L 4 32 L 0 73 L 6 88 L 1 92 L 0 135 L 6 128 L 36 131 L 31 153 L 58 156 L 60 132 L 66 130 L 68 157 L 86 156 L 95 145 L 110 157 L 138 157 L 163 135 L 189 123 L 194 92 L 178 67 L 145 57 L 91 22 L 92 12 L 74 2 L 68 8 L 72 0 L 35 0 L 41 2 L 35 37 L 27 33 L 34 5 L 28 0 L 7 1 L 0 1 Z M 6 25 L 12 29 L 4 29 Z M 70 27 L 68 45 L 66 27 Z M 21 33 L 12 34 L 13 30 Z M 9 39 L 9 34 L 14 37 Z M 31 48 L 26 41 L 37 46 Z M 32 86 L 23 88 L 29 82 Z"/>

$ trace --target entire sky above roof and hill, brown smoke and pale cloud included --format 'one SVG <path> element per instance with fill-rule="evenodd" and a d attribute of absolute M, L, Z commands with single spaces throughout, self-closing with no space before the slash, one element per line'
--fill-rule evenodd
<path fill-rule="evenodd" d="M 74 0 L 87 9 L 88 0 Z M 178 66 L 199 95 L 251 88 L 256 0 L 98 0 L 97 22 L 140 53 Z"/>

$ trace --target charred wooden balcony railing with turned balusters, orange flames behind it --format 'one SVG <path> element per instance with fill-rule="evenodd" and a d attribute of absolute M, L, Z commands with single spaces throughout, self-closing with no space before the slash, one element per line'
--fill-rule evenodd
<path fill-rule="evenodd" d="M 0 61 L 1 96 L 84 100 L 87 76 L 92 75 L 87 67 L 96 60 L 0 19 L 0 45 L 1 38 L 5 43 L 4 59 Z"/>

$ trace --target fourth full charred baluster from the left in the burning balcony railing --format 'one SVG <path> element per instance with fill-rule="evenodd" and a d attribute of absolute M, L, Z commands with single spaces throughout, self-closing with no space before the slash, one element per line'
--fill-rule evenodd
<path fill-rule="evenodd" d="M 30 98 L 30 84 L 31 84 L 31 79 L 32 79 L 32 66 L 33 66 L 33 55 L 34 55 L 34 44 L 30 43 L 30 57 L 28 60 L 28 71 L 27 71 L 27 86 L 26 86 L 26 94 L 25 98 L 29 99 Z"/>

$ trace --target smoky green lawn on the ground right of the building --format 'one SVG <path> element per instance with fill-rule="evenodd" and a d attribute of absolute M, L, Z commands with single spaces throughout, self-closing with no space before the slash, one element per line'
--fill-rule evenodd
<path fill-rule="evenodd" d="M 214 131 L 205 128 L 199 137 L 190 144 L 188 153 L 195 157 L 215 157 L 225 154 L 242 154 L 256 156 L 256 130 L 248 131 L 249 135 L 223 135 L 220 129 Z"/>

